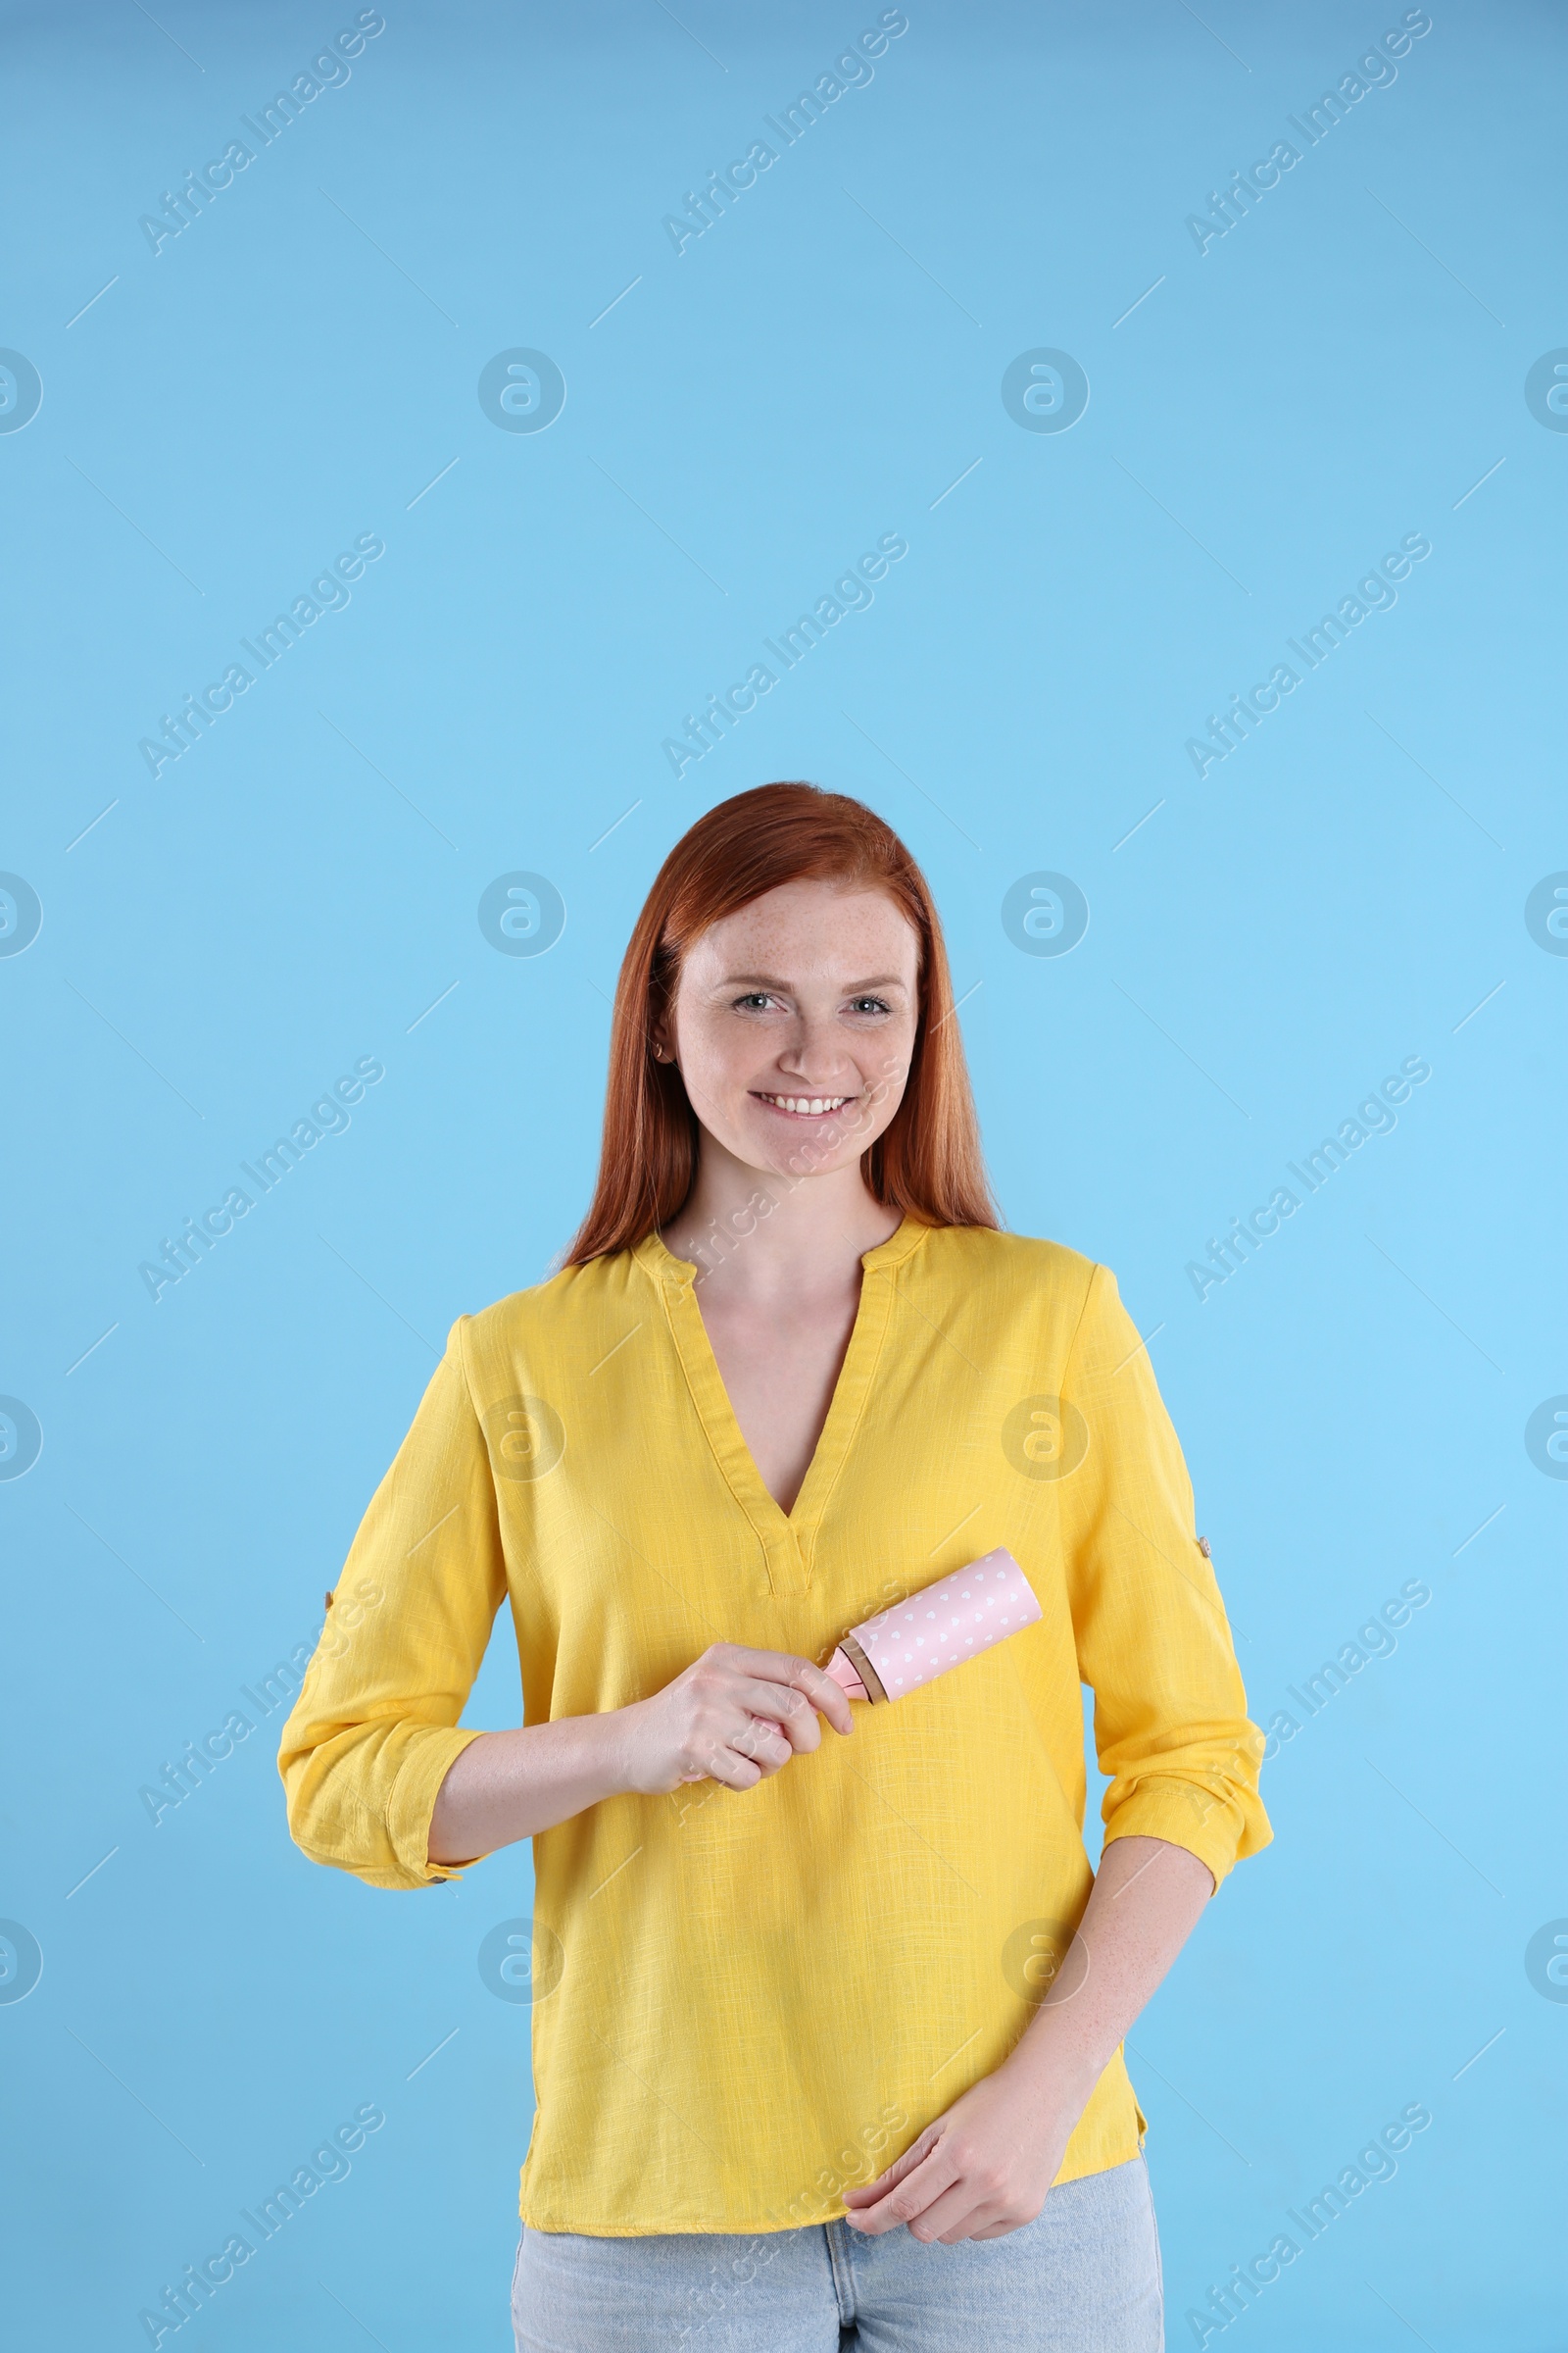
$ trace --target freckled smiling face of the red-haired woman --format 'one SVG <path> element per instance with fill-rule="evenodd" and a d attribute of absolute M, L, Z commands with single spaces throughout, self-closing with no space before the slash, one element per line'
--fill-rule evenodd
<path fill-rule="evenodd" d="M 778 1174 L 853 1165 L 903 1101 L 917 967 L 914 929 L 877 889 L 783 882 L 715 922 L 663 1038 L 708 1134 Z"/>

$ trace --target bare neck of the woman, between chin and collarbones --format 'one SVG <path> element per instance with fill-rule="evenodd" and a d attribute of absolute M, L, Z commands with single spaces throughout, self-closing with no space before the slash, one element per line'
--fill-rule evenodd
<path fill-rule="evenodd" d="M 903 1212 L 884 1207 L 858 1162 L 820 1176 L 755 1169 L 703 1136 L 696 1184 L 665 1231 L 665 1247 L 691 1259 L 698 1282 L 731 1299 L 835 1289 L 860 1257 L 886 1242 Z"/>

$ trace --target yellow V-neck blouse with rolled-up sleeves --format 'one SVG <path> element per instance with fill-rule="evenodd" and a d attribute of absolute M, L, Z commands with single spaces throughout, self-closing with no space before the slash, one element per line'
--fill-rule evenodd
<path fill-rule="evenodd" d="M 710 1642 L 839 1633 L 1004 1544 L 1041 1621 L 750 1791 L 618 1795 L 534 1838 L 534 2231 L 844 2214 L 1009 2054 L 1105 1838 L 1215 1880 L 1267 1845 L 1262 1734 L 1192 1485 L 1117 1282 L 1056 1242 L 922 1226 L 863 1257 L 795 1511 L 762 1485 L 658 1235 L 447 1339 L 282 1734 L 289 1828 L 371 1887 L 451 1878 L 435 1793 L 510 1600 L 524 1720 L 663 1689 Z M 1121 2052 L 1058 2174 L 1133 2158 Z"/>

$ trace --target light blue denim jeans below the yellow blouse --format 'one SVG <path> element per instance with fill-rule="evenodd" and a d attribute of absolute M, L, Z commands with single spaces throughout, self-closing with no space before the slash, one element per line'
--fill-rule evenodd
<path fill-rule="evenodd" d="M 1143 2158 L 957 2247 L 905 2226 L 581 2238 L 529 2231 L 517 2353 L 1164 2353 Z"/>

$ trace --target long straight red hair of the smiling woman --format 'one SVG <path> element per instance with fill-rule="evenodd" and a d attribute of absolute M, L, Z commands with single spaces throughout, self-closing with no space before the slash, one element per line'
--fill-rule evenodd
<path fill-rule="evenodd" d="M 780 882 L 882 889 L 919 941 L 919 1019 L 893 1120 L 860 1155 L 870 1193 L 929 1226 L 997 1226 L 943 927 L 926 878 L 875 809 L 816 784 L 764 784 L 698 816 L 658 868 L 632 932 L 609 1033 L 599 1181 L 562 1266 L 630 1249 L 679 1212 L 698 1125 L 675 1064 L 654 1059 L 686 951 Z"/>

